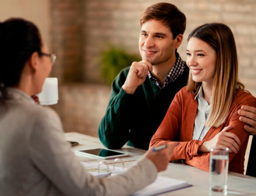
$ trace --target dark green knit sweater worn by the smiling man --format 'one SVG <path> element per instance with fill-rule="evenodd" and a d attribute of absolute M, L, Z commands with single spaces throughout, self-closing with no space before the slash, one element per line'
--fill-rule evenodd
<path fill-rule="evenodd" d="M 99 125 L 99 139 L 110 149 L 119 149 L 126 142 L 148 149 L 175 94 L 186 85 L 189 73 L 186 66 L 183 74 L 163 89 L 147 76 L 134 95 L 129 95 L 121 88 L 129 70 L 130 67 L 122 70 L 113 81 L 109 105 Z"/>

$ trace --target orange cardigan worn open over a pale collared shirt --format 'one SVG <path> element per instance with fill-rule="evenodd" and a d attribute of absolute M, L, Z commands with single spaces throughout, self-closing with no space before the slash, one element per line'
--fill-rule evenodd
<path fill-rule="evenodd" d="M 174 155 L 170 161 L 182 160 L 183 163 L 185 162 L 188 165 L 209 171 L 210 154 L 198 153 L 199 146 L 202 145 L 204 141 L 209 141 L 214 138 L 225 126 L 233 125 L 233 128 L 229 130 L 229 132 L 239 137 L 241 146 L 238 154 L 229 154 L 229 171 L 243 173 L 244 156 L 249 133 L 243 128 L 245 123 L 239 120 L 240 115 L 238 114 L 238 110 L 242 105 L 256 107 L 256 99 L 245 91 L 239 91 L 236 94 L 235 101 L 231 104 L 226 122 L 218 128 L 211 127 L 202 141 L 192 140 L 197 104 L 195 95 L 188 93 L 186 86 L 182 88 L 176 94 L 162 123 L 151 139 L 150 147 L 165 141 L 172 143 L 178 140 L 180 144 L 175 148 Z"/>

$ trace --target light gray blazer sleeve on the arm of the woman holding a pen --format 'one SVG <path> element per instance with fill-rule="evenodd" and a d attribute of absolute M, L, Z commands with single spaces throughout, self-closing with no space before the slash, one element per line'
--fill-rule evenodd
<path fill-rule="evenodd" d="M 130 195 L 157 177 L 153 162 L 143 158 L 121 175 L 98 180 L 82 167 L 70 150 L 55 112 L 41 111 L 33 127 L 29 139 L 31 160 L 63 195 Z"/>

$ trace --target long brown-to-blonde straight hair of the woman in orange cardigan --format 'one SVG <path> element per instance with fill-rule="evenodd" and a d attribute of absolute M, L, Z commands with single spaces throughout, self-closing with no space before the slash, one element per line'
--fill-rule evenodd
<path fill-rule="evenodd" d="M 244 85 L 238 79 L 238 56 L 232 31 L 221 23 L 204 24 L 194 29 L 188 36 L 197 37 L 208 43 L 217 53 L 212 100 L 207 127 L 219 127 L 228 117 L 231 103 Z M 195 82 L 189 73 L 187 91 L 197 94 L 202 82 Z"/>

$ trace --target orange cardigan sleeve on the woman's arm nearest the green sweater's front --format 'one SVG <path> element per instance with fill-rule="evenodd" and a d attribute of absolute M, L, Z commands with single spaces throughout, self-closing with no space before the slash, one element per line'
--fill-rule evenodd
<path fill-rule="evenodd" d="M 182 107 L 182 90 L 179 91 L 172 103 L 170 104 L 168 111 L 157 129 L 156 134 L 153 136 L 150 147 L 153 147 L 157 144 L 165 143 L 173 143 L 175 139 L 178 137 L 181 123 L 181 107 Z M 188 142 L 179 142 L 179 145 L 174 149 L 174 155 L 170 159 L 179 160 L 179 159 L 192 159 L 194 156 L 198 156 L 198 148 L 202 144 L 202 141 L 199 140 L 191 140 Z"/>

